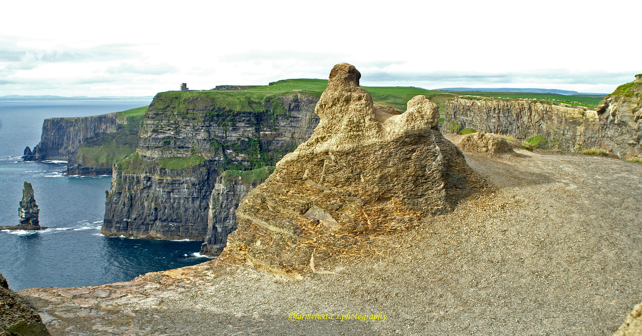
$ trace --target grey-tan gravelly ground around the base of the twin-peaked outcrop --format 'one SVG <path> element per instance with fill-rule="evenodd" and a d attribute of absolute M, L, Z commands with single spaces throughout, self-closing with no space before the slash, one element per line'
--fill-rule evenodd
<path fill-rule="evenodd" d="M 19 293 L 51 335 L 612 335 L 642 301 L 642 165 L 516 152 L 464 152 L 496 190 L 316 264 L 336 274 L 289 280 L 212 260 Z"/>

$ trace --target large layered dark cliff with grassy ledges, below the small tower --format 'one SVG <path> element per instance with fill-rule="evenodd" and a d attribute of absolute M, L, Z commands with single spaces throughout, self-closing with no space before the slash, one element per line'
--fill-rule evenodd
<path fill-rule="evenodd" d="M 101 232 L 204 239 L 218 176 L 273 165 L 318 123 L 315 97 L 260 98 L 243 92 L 158 94 L 141 121 L 139 158 L 114 165 Z M 221 214 L 216 221 L 229 226 L 230 217 Z"/>

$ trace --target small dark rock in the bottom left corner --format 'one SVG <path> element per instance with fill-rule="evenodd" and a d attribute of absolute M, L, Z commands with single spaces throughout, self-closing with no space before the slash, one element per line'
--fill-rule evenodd
<path fill-rule="evenodd" d="M 40 315 L 9 289 L 0 274 L 0 336 L 46 336 Z"/>

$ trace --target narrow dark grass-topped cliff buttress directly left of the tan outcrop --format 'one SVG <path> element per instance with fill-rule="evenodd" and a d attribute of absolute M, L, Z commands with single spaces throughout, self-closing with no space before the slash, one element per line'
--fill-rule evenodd
<path fill-rule="evenodd" d="M 241 199 L 263 183 L 272 171 L 273 167 L 265 167 L 248 172 L 226 171 L 218 176 L 209 201 L 207 235 L 200 251 L 202 255 L 218 255 L 223 251 L 227 245 L 227 235 L 237 228 L 236 208 Z"/>

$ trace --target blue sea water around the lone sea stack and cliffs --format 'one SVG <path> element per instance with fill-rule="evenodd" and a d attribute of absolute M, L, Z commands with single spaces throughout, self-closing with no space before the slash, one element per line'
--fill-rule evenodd
<path fill-rule="evenodd" d="M 64 176 L 64 162 L 22 162 L 40 141 L 42 122 L 148 105 L 150 101 L 0 101 L 0 226 L 18 224 L 22 185 L 33 185 L 41 231 L 0 231 L 0 273 L 13 290 L 127 281 L 139 274 L 207 260 L 202 241 L 104 237 L 111 176 Z"/>

